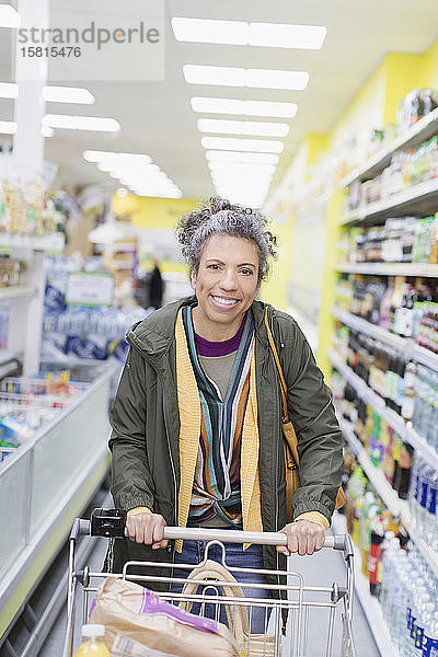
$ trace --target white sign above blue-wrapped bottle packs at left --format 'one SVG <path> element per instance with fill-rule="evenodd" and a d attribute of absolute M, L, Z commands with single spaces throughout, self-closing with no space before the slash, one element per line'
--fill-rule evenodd
<path fill-rule="evenodd" d="M 66 303 L 69 306 L 113 306 L 114 276 L 101 272 L 69 274 Z"/>

